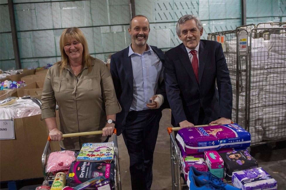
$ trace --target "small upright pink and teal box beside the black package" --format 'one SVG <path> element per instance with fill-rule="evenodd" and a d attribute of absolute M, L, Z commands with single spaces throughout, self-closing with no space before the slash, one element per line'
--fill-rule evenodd
<path fill-rule="evenodd" d="M 224 161 L 217 151 L 205 151 L 205 161 L 210 172 L 222 179 L 224 175 Z"/>

